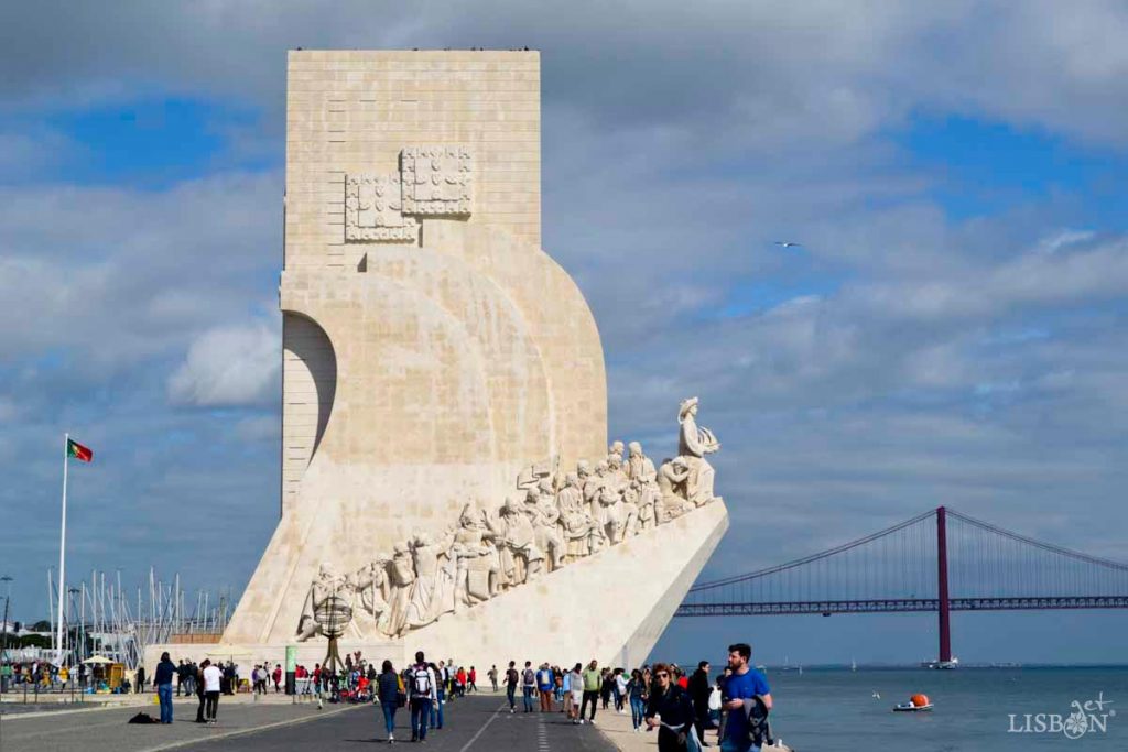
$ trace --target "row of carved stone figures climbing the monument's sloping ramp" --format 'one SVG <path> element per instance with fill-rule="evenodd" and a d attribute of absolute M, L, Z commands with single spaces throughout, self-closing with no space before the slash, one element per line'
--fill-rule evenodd
<path fill-rule="evenodd" d="M 638 442 L 616 441 L 594 468 L 585 460 L 563 476 L 549 462 L 526 468 L 496 512 L 467 503 L 441 536 L 416 533 L 354 574 L 323 564 L 298 640 L 327 634 L 319 618 L 336 612 L 331 604 L 353 609 L 354 636 L 400 637 L 708 504 L 706 455 L 721 444 L 696 417 L 697 398 L 682 400 L 678 457 L 656 468 Z"/>

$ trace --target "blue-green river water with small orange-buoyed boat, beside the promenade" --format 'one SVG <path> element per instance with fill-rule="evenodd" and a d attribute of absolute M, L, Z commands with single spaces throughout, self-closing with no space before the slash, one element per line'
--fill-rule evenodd
<path fill-rule="evenodd" d="M 775 734 L 797 752 L 1128 750 L 1128 667 L 775 670 L 768 682 Z M 914 692 L 935 709 L 891 711 Z"/>

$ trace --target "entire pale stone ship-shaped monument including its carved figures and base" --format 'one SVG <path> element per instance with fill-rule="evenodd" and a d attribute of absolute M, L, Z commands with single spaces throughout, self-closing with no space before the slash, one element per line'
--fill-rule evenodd
<path fill-rule="evenodd" d="M 539 245 L 539 81 L 290 53 L 281 520 L 221 645 L 174 654 L 626 665 L 661 635 L 728 527 L 720 443 L 693 398 L 677 458 L 608 449 L 596 321 Z"/>

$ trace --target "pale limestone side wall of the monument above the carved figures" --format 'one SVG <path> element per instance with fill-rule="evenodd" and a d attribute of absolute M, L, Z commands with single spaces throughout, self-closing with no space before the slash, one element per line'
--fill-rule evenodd
<path fill-rule="evenodd" d="M 539 96 L 537 53 L 290 53 L 283 515 L 226 639 L 290 637 L 327 547 L 353 569 L 606 448 L 599 333 L 538 245 Z"/>

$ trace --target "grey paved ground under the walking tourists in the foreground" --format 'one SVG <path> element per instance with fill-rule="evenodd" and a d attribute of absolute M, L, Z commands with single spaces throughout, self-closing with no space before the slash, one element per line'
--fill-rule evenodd
<path fill-rule="evenodd" d="M 228 698 L 224 698 L 228 699 Z M 51 713 L 0 720 L 0 752 L 157 752 L 158 750 L 287 750 L 324 752 L 363 750 L 385 744 L 384 719 L 372 705 L 333 706 L 239 700 L 220 701 L 219 723 L 192 723 L 195 701 L 176 704 L 171 726 L 130 725 L 136 707 L 78 713 Z M 146 706 L 157 715 L 155 706 Z M 552 752 L 611 752 L 616 745 L 598 727 L 573 726 L 559 713 L 510 715 L 503 696 L 470 696 L 443 708 L 442 731 L 428 734 L 426 749 L 450 752 L 478 750 L 536 750 Z M 411 738 L 409 715 L 396 718 L 396 738 Z M 608 718 L 608 720 L 611 720 Z M 618 719 L 616 719 L 618 720 Z"/>

